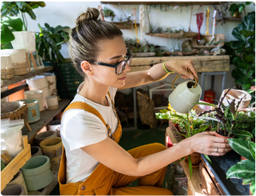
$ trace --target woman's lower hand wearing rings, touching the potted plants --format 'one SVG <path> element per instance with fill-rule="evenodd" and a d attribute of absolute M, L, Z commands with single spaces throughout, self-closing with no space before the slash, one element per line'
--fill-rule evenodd
<path fill-rule="evenodd" d="M 182 141 L 181 144 L 189 148 L 191 153 L 204 153 L 210 156 L 223 156 L 231 150 L 228 139 L 216 137 L 216 132 L 210 131 L 197 133 Z"/>

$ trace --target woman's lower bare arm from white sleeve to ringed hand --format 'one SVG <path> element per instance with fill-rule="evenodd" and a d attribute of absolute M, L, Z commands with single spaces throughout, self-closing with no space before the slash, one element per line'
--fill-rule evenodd
<path fill-rule="evenodd" d="M 225 138 L 217 138 L 213 132 L 198 133 L 175 146 L 158 153 L 134 159 L 121 146 L 106 138 L 104 141 L 82 148 L 101 164 L 121 174 L 140 177 L 171 164 L 177 159 L 197 151 L 212 156 L 222 156 L 231 148 Z M 216 153 L 218 148 L 218 153 Z"/>

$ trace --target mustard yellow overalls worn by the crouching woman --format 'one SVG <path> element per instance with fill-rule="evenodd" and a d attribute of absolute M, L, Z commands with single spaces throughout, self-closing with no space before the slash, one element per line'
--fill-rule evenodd
<path fill-rule="evenodd" d="M 108 94 L 110 97 L 110 95 Z M 111 100 L 112 102 L 112 100 Z M 112 102 L 113 104 L 113 102 Z M 91 112 L 97 117 L 99 117 L 108 130 L 109 125 L 103 120 L 101 114 L 84 102 L 73 102 L 69 104 L 67 110 L 72 109 L 81 109 L 87 112 Z M 64 114 L 63 112 L 63 114 Z M 62 115 L 63 115 L 62 114 Z M 119 121 L 119 119 L 118 119 Z M 109 136 L 109 133 L 108 133 Z M 121 124 L 119 121 L 116 132 L 111 135 L 111 138 L 119 143 L 121 138 Z M 135 159 L 138 159 L 143 156 L 148 156 L 153 153 L 165 150 L 166 147 L 160 143 L 152 143 L 145 146 L 140 146 L 134 148 L 128 153 L 130 153 Z M 160 196 L 173 196 L 172 192 L 166 189 L 161 188 L 163 184 L 163 179 L 166 174 L 166 168 L 160 169 L 152 174 L 148 174 L 144 177 L 131 177 L 114 170 L 109 169 L 103 164 L 98 164 L 96 169 L 85 182 L 76 182 L 76 183 L 66 183 L 66 155 L 63 146 L 61 164 L 59 168 L 59 190 L 61 196 L 131 196 L 131 195 L 140 195 L 140 196 L 150 196 L 150 195 L 160 195 Z M 134 182 L 136 179 L 139 179 L 138 187 L 127 187 L 128 184 Z"/>

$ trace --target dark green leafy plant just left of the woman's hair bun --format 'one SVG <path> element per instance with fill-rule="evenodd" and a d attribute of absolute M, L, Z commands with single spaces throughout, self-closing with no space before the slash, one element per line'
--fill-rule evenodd
<path fill-rule="evenodd" d="M 64 57 L 61 55 L 61 44 L 69 40 L 69 27 L 50 27 L 45 23 L 45 27 L 41 27 L 40 32 L 35 34 L 35 43 L 38 50 L 38 55 L 44 57 L 46 61 L 53 60 L 54 62 L 65 63 Z"/>

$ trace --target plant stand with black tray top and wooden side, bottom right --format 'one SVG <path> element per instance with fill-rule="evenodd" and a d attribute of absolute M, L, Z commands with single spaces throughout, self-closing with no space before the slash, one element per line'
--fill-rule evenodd
<path fill-rule="evenodd" d="M 224 156 L 209 156 L 210 160 L 213 162 L 213 166 L 205 159 L 205 156 L 201 154 L 201 157 L 202 165 L 200 166 L 200 178 L 202 180 L 202 187 L 205 187 L 208 194 L 214 192 L 214 187 L 216 187 L 219 195 L 249 195 L 249 184 L 243 185 L 242 179 L 226 179 L 228 169 L 241 159 L 238 153 L 232 150 Z"/>

